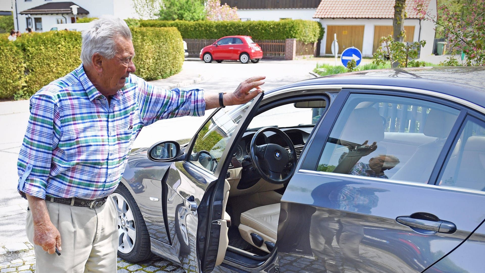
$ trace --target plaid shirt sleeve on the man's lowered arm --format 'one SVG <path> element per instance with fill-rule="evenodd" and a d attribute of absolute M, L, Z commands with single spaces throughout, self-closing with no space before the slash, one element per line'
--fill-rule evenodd
<path fill-rule="evenodd" d="M 34 95 L 30 100 L 30 118 L 17 162 L 17 190 L 46 198 L 52 163 L 52 151 L 59 143 L 60 117 L 50 96 Z"/>

